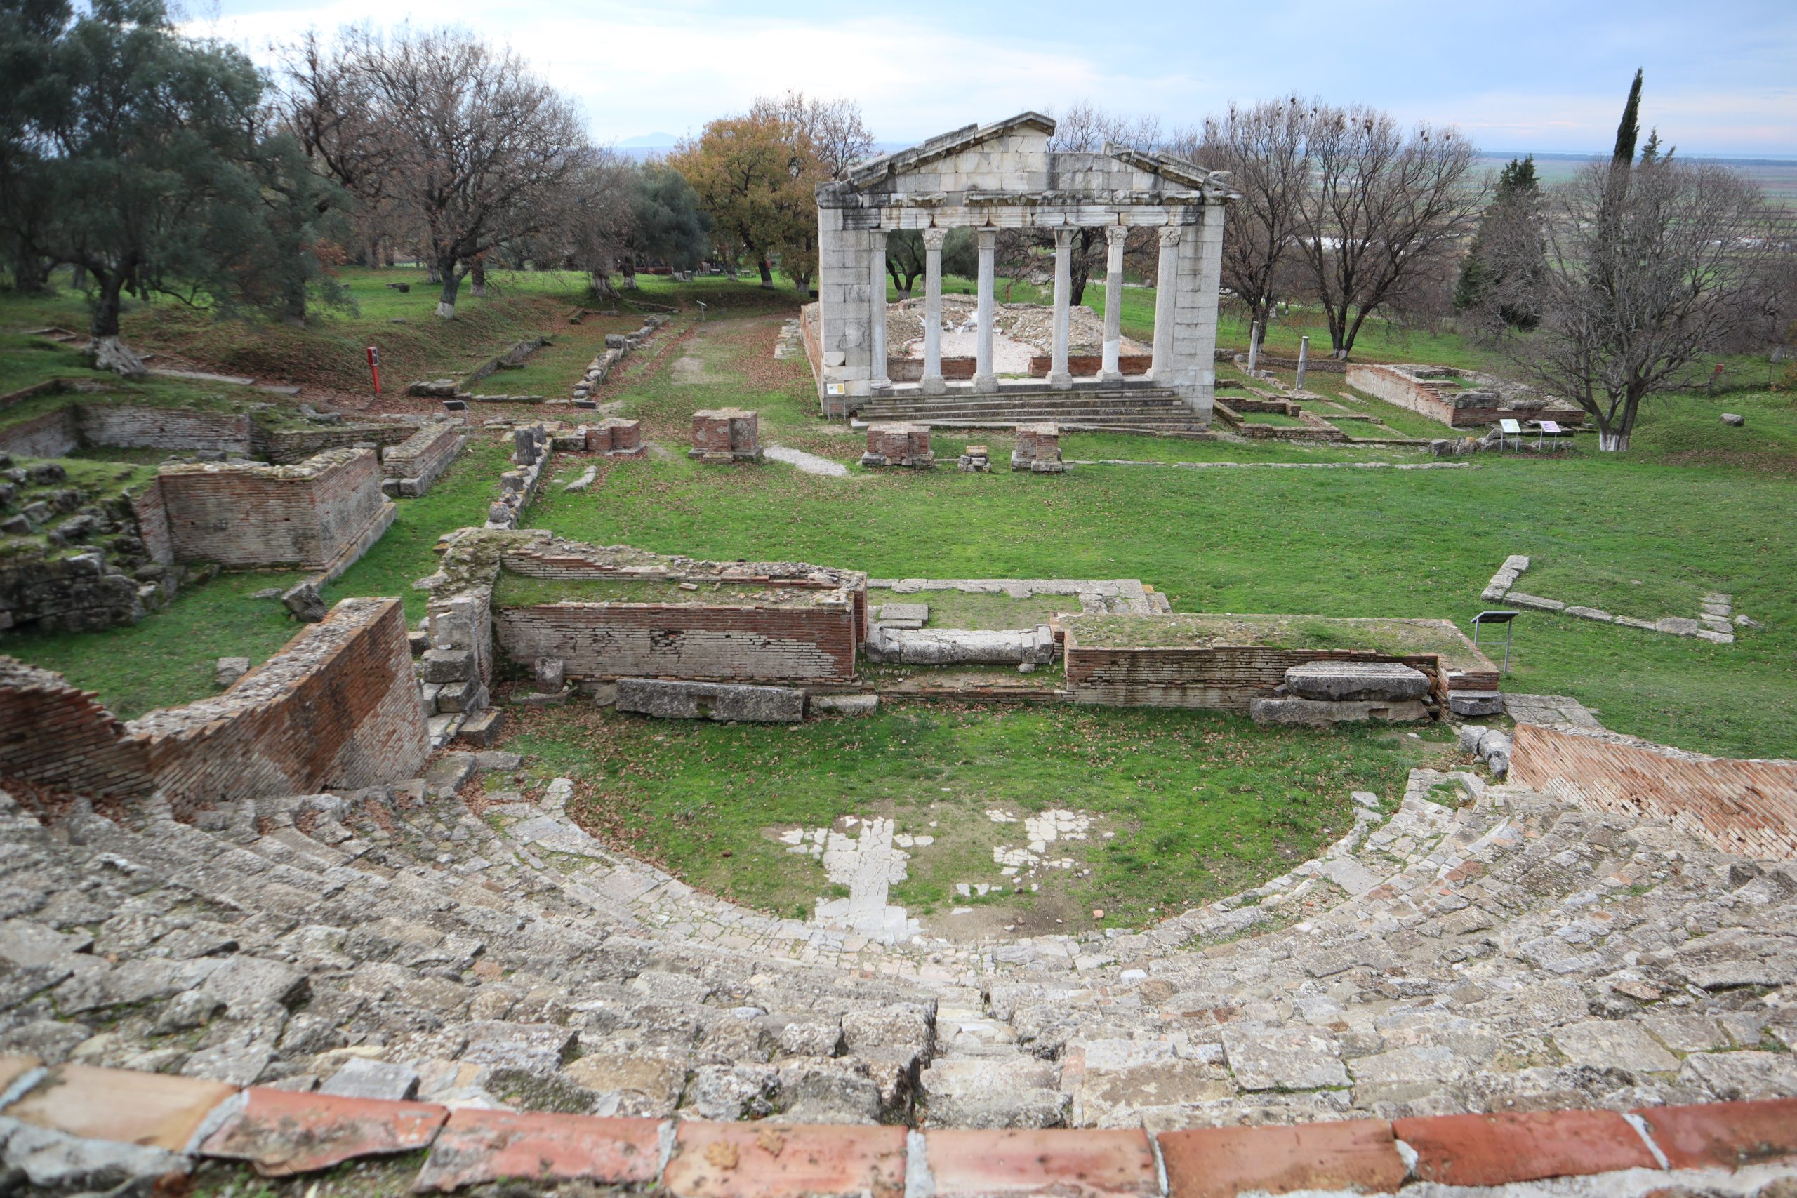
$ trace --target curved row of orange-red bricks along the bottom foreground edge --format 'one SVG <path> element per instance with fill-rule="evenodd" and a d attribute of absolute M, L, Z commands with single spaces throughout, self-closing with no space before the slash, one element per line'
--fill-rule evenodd
<path fill-rule="evenodd" d="M 84 1141 L 190 1146 L 199 1158 L 246 1162 L 262 1176 L 429 1150 L 419 1193 L 530 1176 L 672 1198 L 1235 1198 L 1587 1176 L 1599 1182 L 1565 1193 L 1637 1196 L 1713 1193 L 1729 1171 L 1754 1169 L 1739 1178 L 1745 1189 L 1731 1182 L 1727 1193 L 1772 1194 L 1786 1193 L 1797 1158 L 1797 1099 L 1646 1106 L 1628 1117 L 1531 1110 L 1150 1135 L 449 1112 L 264 1087 L 239 1094 L 203 1078 L 124 1069 L 41 1069 L 31 1056 L 0 1056 L 0 1079 L 11 1083 L 13 1101 L 0 1112 L 7 1119 Z M 169 1162 L 190 1167 L 180 1157 Z"/>

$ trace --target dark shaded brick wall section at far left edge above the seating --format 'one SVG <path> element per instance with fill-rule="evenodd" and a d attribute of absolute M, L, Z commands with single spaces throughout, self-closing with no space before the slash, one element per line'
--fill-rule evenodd
<path fill-rule="evenodd" d="M 0 657 L 0 778 L 95 799 L 151 788 L 144 745 L 97 695 L 13 657 Z"/>

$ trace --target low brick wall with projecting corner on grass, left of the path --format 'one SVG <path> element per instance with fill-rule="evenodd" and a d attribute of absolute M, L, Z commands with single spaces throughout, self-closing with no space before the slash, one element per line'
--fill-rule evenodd
<path fill-rule="evenodd" d="M 322 569 L 383 512 L 368 449 L 305 465 L 173 465 L 158 474 L 180 560 Z"/>

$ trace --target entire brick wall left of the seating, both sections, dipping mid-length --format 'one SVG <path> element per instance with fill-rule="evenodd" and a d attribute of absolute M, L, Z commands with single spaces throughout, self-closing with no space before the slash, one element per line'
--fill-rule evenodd
<path fill-rule="evenodd" d="M 176 810 L 368 787 L 424 767 L 397 598 L 338 603 L 230 690 L 120 724 L 61 675 L 0 657 L 0 776 Z"/>

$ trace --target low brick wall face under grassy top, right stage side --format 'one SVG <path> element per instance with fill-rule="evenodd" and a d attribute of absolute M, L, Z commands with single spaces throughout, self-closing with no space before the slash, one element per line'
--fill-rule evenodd
<path fill-rule="evenodd" d="M 1434 654 L 1393 657 L 1360 650 L 1265 648 L 1098 648 L 1067 641 L 1067 691 L 1075 702 L 1105 708 L 1215 708 L 1247 711 L 1267 699 L 1285 672 L 1306 661 L 1400 661 L 1439 679 Z M 1438 688 L 1439 690 L 1439 688 Z"/>

